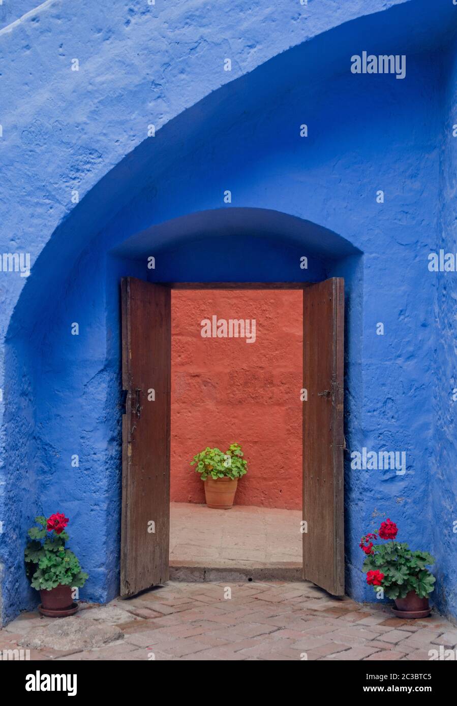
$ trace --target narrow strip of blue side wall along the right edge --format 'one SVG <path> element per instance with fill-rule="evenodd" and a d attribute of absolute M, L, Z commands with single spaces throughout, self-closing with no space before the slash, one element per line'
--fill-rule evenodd
<path fill-rule="evenodd" d="M 457 44 L 444 58 L 443 139 L 441 143 L 441 198 L 437 250 L 457 253 Z M 434 525 L 434 555 L 437 558 L 439 608 L 457 615 L 457 274 L 429 273 L 437 290 L 434 314 L 437 321 L 435 351 L 436 380 L 434 410 L 436 430 L 430 460 L 431 516 Z M 437 521 L 439 518 L 439 521 Z"/>

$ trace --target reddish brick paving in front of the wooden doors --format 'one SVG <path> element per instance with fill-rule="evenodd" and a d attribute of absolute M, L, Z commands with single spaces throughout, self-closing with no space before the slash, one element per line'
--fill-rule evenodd
<path fill-rule="evenodd" d="M 387 606 L 331 599 L 308 582 L 170 582 L 81 605 L 71 618 L 21 614 L 0 630 L 1 650 L 28 648 L 44 660 L 428 660 L 440 645 L 457 645 L 440 616 L 403 621 Z"/>

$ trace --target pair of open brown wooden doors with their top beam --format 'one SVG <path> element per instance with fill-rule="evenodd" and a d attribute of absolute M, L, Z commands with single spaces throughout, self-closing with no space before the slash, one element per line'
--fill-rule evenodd
<path fill-rule="evenodd" d="M 121 281 L 121 596 L 167 581 L 171 289 L 303 290 L 303 578 L 344 593 L 344 281 L 161 285 Z M 297 394 L 299 390 L 297 390 Z"/>

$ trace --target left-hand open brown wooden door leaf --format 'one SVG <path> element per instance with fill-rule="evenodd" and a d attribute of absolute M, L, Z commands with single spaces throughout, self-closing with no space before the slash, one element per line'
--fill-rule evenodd
<path fill-rule="evenodd" d="M 121 280 L 121 596 L 168 579 L 170 545 L 171 292 Z"/>

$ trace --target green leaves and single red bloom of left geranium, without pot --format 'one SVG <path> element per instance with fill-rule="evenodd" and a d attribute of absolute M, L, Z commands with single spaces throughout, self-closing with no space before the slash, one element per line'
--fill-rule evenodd
<path fill-rule="evenodd" d="M 65 548 L 69 535 L 64 527 L 68 521 L 68 517 L 59 513 L 48 519 L 40 515 L 35 517 L 38 526 L 28 530 L 31 541 L 25 547 L 27 575 L 38 591 L 60 585 L 81 588 L 88 578 L 73 551 Z"/>

